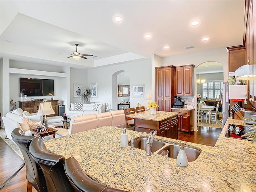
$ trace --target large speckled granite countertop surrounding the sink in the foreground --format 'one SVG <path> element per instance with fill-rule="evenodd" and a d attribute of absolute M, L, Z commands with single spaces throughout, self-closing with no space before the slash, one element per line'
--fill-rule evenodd
<path fill-rule="evenodd" d="M 52 153 L 74 156 L 84 172 L 95 181 L 132 192 L 255 192 L 256 147 L 251 142 L 226 138 L 222 130 L 214 147 L 185 142 L 201 154 L 187 167 L 158 154 L 146 156 L 144 150 L 122 149 L 121 128 L 105 126 L 44 143 Z M 129 140 L 148 134 L 127 130 Z M 178 144 L 178 140 L 155 137 Z"/>

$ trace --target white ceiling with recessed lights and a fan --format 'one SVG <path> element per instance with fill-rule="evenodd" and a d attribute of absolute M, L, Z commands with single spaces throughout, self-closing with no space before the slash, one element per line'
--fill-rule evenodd
<path fill-rule="evenodd" d="M 236 46 L 243 44 L 244 6 L 244 0 L 1 0 L 0 52 L 12 60 L 90 68 Z M 114 22 L 116 15 L 122 22 Z M 194 20 L 200 24 L 191 26 Z M 59 54 L 72 54 L 75 43 L 81 54 L 97 57 Z"/>

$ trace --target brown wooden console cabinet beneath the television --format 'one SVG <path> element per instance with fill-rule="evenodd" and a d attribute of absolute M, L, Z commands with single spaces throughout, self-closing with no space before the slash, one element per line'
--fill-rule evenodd
<path fill-rule="evenodd" d="M 38 108 L 41 102 L 44 101 L 19 101 L 20 102 L 20 108 L 22 108 L 24 111 L 27 111 L 29 113 L 36 113 L 38 112 Z M 50 100 L 47 102 L 51 102 L 52 108 L 55 112 L 55 114 L 47 115 L 49 116 L 59 116 L 59 100 Z"/>

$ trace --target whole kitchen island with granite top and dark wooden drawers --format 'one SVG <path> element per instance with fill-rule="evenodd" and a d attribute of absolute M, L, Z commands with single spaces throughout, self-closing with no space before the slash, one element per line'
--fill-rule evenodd
<path fill-rule="evenodd" d="M 158 136 L 178 139 L 178 114 L 156 111 L 155 115 L 151 115 L 150 111 L 144 111 L 126 116 L 134 118 L 136 131 L 149 133 L 157 130 Z"/>

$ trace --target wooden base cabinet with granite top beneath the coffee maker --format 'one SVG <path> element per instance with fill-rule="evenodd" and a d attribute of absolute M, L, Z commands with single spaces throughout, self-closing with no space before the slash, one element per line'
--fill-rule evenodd
<path fill-rule="evenodd" d="M 178 114 L 178 130 L 184 132 L 194 131 L 194 109 L 193 110 L 177 110 L 172 109 L 172 112 Z"/>

